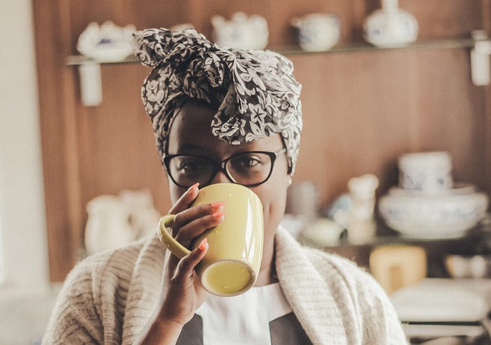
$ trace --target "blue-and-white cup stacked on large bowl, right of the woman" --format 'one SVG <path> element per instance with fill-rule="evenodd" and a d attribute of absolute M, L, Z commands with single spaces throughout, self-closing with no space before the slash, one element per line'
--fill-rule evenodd
<path fill-rule="evenodd" d="M 485 216 L 488 196 L 469 184 L 454 184 L 446 152 L 399 158 L 399 187 L 379 201 L 386 224 L 413 239 L 461 237 Z"/>

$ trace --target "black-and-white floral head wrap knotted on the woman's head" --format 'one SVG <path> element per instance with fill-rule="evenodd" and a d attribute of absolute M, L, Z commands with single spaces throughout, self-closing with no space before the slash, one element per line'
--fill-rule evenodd
<path fill-rule="evenodd" d="M 172 119 L 195 98 L 218 109 L 212 133 L 230 144 L 281 133 L 294 172 L 302 111 L 290 60 L 271 51 L 221 49 L 193 29 L 137 31 L 132 45 L 141 63 L 154 67 L 141 98 L 162 158 Z"/>

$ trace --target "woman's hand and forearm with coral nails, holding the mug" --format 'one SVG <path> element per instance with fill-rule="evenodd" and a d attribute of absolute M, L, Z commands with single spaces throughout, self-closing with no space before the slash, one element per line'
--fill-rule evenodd
<path fill-rule="evenodd" d="M 213 203 L 189 208 L 198 195 L 198 185 L 191 186 L 170 209 L 175 214 L 172 236 L 190 248 L 193 239 L 223 221 L 224 203 Z M 163 277 L 160 310 L 141 344 L 175 344 L 184 324 L 204 302 L 207 293 L 194 271 L 208 250 L 203 240 L 181 260 L 171 255 Z"/>

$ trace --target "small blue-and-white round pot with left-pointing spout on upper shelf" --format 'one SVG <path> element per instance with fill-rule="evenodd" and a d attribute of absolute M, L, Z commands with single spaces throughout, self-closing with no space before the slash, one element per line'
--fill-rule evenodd
<path fill-rule="evenodd" d="M 308 52 L 327 51 L 339 41 L 339 17 L 333 14 L 311 13 L 290 22 L 298 29 L 300 48 Z"/>

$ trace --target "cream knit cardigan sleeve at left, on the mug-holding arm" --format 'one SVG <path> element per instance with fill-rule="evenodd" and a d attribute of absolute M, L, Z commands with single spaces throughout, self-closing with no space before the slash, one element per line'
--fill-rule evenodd
<path fill-rule="evenodd" d="M 90 257 L 68 274 L 58 295 L 43 345 L 104 344 L 101 305 L 97 296 L 106 255 Z"/>

